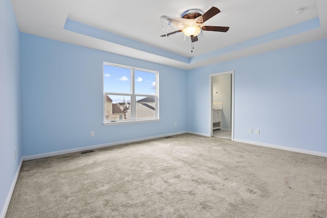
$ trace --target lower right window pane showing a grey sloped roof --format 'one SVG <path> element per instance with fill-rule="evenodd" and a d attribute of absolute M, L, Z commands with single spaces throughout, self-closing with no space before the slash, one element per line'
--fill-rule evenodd
<path fill-rule="evenodd" d="M 155 97 L 136 96 L 136 119 L 155 118 Z"/>

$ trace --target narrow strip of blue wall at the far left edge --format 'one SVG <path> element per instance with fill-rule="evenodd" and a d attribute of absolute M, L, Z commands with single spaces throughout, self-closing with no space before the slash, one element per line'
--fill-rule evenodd
<path fill-rule="evenodd" d="M 0 2 L 0 32 L 1 213 L 21 160 L 19 31 L 10 0 Z"/>

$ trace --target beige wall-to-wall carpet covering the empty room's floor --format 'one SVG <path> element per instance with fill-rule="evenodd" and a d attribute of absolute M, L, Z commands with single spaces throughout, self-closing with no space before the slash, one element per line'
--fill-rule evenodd
<path fill-rule="evenodd" d="M 327 217 L 327 158 L 182 134 L 24 161 L 10 217 Z"/>

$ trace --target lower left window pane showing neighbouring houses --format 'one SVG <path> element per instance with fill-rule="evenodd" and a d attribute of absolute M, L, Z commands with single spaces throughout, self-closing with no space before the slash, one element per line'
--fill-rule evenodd
<path fill-rule="evenodd" d="M 105 95 L 105 120 L 130 119 L 129 95 Z"/>

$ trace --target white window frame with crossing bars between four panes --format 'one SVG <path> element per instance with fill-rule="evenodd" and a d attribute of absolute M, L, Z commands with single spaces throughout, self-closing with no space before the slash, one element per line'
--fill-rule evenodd
<path fill-rule="evenodd" d="M 138 67 L 131 67 L 121 64 L 113 64 L 108 62 L 103 62 L 103 70 L 102 75 L 104 73 L 104 66 L 110 65 L 115 67 L 123 67 L 123 68 L 129 68 L 131 69 L 131 93 L 117 93 L 117 92 L 105 92 L 104 91 L 104 81 L 102 76 L 102 90 L 103 90 L 103 125 L 104 126 L 110 126 L 110 125 L 121 125 L 121 124 L 131 124 L 131 123 L 147 123 L 147 122 L 157 122 L 159 121 L 159 72 L 149 69 L 142 69 Z M 155 74 L 155 93 L 156 94 L 135 94 L 135 70 L 145 71 L 145 72 L 151 72 Z M 106 95 L 129 95 L 130 98 L 130 110 L 131 110 L 131 118 L 124 120 L 106 120 L 106 114 L 105 114 L 105 97 Z M 136 119 L 136 96 L 151 96 L 155 97 L 155 117 L 154 118 L 146 118 L 146 119 Z"/>

